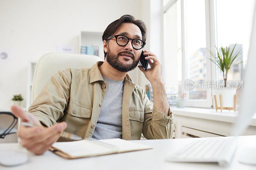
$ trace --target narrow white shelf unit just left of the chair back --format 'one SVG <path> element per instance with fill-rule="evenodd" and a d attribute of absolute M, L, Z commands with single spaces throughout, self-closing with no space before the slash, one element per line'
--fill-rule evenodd
<path fill-rule="evenodd" d="M 34 72 L 36 68 L 36 62 L 35 60 L 31 60 L 28 62 L 28 83 L 27 83 L 27 100 L 26 100 L 26 110 L 28 110 L 28 107 L 31 105 L 31 88 L 32 88 L 32 82 L 34 77 Z"/>

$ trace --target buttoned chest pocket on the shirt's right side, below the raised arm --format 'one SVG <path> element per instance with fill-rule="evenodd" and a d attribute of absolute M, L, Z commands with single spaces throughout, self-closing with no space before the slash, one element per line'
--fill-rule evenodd
<path fill-rule="evenodd" d="M 140 140 L 144 122 L 144 110 L 129 110 L 129 121 L 132 140 Z"/>

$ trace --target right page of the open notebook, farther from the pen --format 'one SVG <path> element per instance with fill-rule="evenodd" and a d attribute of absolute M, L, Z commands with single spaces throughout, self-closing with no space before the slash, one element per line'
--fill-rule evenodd
<path fill-rule="evenodd" d="M 144 150 L 144 149 L 152 149 L 153 147 L 151 146 L 147 146 L 144 144 L 136 144 L 124 139 L 119 139 L 119 138 L 115 138 L 115 139 L 103 139 L 100 140 L 102 142 L 108 143 L 108 144 L 112 144 L 112 145 L 116 145 L 118 147 L 118 153 L 120 152 L 129 152 L 129 151 L 138 151 L 138 150 Z"/>

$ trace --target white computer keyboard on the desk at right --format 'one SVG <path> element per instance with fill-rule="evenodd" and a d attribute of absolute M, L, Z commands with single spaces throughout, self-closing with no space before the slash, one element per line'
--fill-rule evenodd
<path fill-rule="evenodd" d="M 171 162 L 217 162 L 220 166 L 228 166 L 236 151 L 236 140 L 206 139 L 193 141 L 166 160 Z"/>

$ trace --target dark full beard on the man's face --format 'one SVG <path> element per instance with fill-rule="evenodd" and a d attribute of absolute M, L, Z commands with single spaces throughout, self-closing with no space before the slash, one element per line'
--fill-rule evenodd
<path fill-rule="evenodd" d="M 132 55 L 132 58 L 131 59 L 127 59 L 127 58 L 124 58 L 125 61 L 129 61 L 129 60 L 133 60 L 131 64 L 129 65 L 124 65 L 120 60 L 119 60 L 119 56 L 120 54 L 130 54 Z M 106 59 L 107 59 L 107 62 L 113 67 L 115 68 L 116 70 L 118 71 L 121 71 L 121 72 L 128 72 L 128 71 L 131 71 L 133 69 L 135 69 L 139 63 L 139 60 L 135 60 L 135 56 L 132 54 L 132 52 L 128 52 L 128 51 L 122 51 L 122 52 L 119 52 L 117 55 L 115 55 L 114 53 L 112 53 L 110 51 L 110 49 L 108 48 L 108 52 L 107 52 L 107 55 L 106 55 Z"/>

